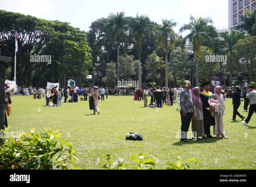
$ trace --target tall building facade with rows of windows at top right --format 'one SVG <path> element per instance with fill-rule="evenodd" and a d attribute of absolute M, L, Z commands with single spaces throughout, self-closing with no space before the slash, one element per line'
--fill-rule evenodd
<path fill-rule="evenodd" d="M 245 9 L 253 12 L 256 0 L 229 0 L 229 28 L 242 23 L 241 15 L 245 14 Z"/>

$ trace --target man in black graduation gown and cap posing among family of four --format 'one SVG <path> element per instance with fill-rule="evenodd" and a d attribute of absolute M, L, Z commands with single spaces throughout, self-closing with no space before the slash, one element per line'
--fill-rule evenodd
<path fill-rule="evenodd" d="M 204 90 L 200 93 L 200 98 L 203 103 L 204 134 L 206 134 L 207 138 L 214 138 L 210 131 L 210 127 L 215 125 L 215 119 L 211 115 L 211 112 L 214 112 L 214 109 L 211 109 L 208 103 L 208 99 L 212 98 L 212 93 L 210 92 L 210 82 L 203 83 L 202 86 Z M 203 139 L 206 139 L 206 137 L 204 136 Z"/>

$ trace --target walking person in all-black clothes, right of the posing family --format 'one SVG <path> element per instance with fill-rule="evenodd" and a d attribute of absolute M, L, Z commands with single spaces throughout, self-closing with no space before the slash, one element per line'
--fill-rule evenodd
<path fill-rule="evenodd" d="M 233 121 L 236 121 L 236 115 L 238 115 L 242 121 L 244 120 L 244 116 L 242 116 L 237 110 L 241 104 L 241 99 L 240 99 L 240 96 L 241 96 L 241 91 L 240 91 L 240 87 L 239 86 L 236 86 L 234 88 L 234 93 L 233 93 L 233 96 L 232 96 L 232 104 L 233 104 L 233 118 L 231 120 Z"/>

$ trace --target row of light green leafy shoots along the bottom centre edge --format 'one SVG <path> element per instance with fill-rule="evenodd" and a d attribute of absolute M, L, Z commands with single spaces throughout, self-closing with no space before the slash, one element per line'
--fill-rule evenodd
<path fill-rule="evenodd" d="M 127 169 L 125 168 L 125 166 L 127 166 L 128 168 L 135 168 L 136 170 L 152 170 L 153 166 L 155 166 L 155 164 L 157 163 L 157 159 L 154 158 L 153 156 L 149 155 L 149 154 L 135 154 L 131 156 L 131 160 L 135 161 L 137 163 L 137 165 L 133 165 L 131 163 L 124 163 L 124 159 L 123 158 L 118 158 L 118 161 L 113 162 L 110 158 L 110 154 L 104 154 L 102 155 L 105 160 L 99 162 L 99 164 L 101 164 L 101 167 L 104 169 L 108 169 L 108 170 L 124 170 Z M 178 157 L 178 162 L 177 164 L 172 164 L 172 163 L 166 163 L 166 165 L 168 167 L 166 167 L 167 170 L 189 170 L 190 166 L 189 164 L 191 162 L 196 163 L 196 159 L 195 158 L 191 158 L 189 159 L 187 162 L 185 163 L 181 163 L 181 158 Z"/>

